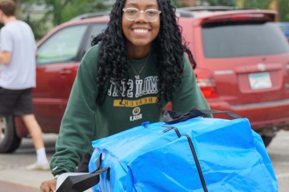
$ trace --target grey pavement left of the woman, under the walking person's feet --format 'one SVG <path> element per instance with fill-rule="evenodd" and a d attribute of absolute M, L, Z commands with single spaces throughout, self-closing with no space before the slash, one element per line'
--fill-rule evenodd
<path fill-rule="evenodd" d="M 47 156 L 55 152 L 54 145 L 57 135 L 44 134 Z M 35 151 L 31 139 L 22 139 L 21 146 L 13 154 L 0 154 L 0 192 L 17 192 L 19 186 L 27 186 L 27 191 L 39 191 L 42 181 L 52 179 L 49 171 L 27 171 L 25 166 L 34 163 L 36 160 Z M 10 190 L 15 184 L 15 189 Z M 7 190 L 4 190 L 5 189 Z M 8 188 L 9 187 L 9 188 Z M 32 190 L 34 189 L 34 191 Z"/>

